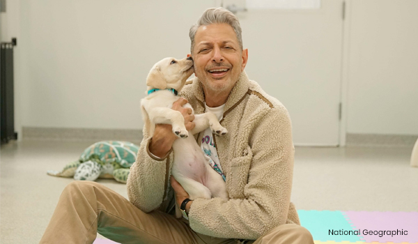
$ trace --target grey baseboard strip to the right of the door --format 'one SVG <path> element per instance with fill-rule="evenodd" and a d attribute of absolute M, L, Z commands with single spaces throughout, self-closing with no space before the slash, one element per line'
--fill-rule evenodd
<path fill-rule="evenodd" d="M 418 135 L 351 134 L 346 137 L 346 146 L 414 146 Z"/>

